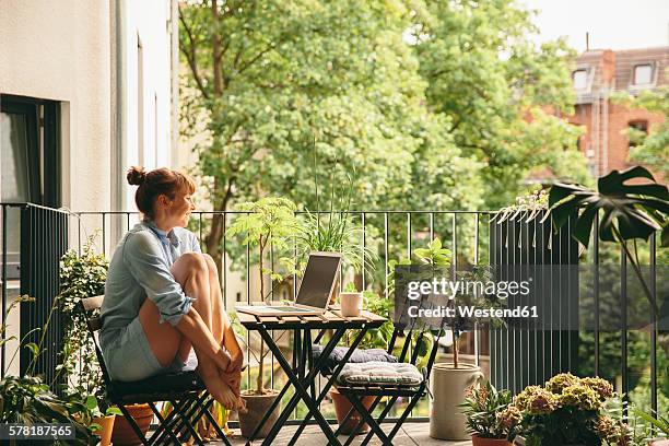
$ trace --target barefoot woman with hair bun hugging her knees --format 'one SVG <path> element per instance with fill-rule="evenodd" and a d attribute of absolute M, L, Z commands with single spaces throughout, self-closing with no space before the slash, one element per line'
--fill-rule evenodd
<path fill-rule="evenodd" d="M 191 348 L 197 372 L 226 408 L 239 398 L 242 349 L 223 310 L 219 272 L 185 226 L 193 180 L 179 172 L 132 167 L 143 220 L 118 244 L 107 274 L 99 343 L 111 379 L 139 380 L 181 369 Z"/>

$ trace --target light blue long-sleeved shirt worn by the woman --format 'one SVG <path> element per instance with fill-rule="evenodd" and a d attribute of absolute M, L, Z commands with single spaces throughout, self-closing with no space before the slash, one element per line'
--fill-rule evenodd
<path fill-rule="evenodd" d="M 99 343 L 103 350 L 139 315 L 149 297 L 157 306 L 160 321 L 177 325 L 190 310 L 192 297 L 184 294 L 172 275 L 172 265 L 185 253 L 201 253 L 198 238 L 184 227 L 169 234 L 152 221 L 128 231 L 116 247 L 105 283 Z"/>

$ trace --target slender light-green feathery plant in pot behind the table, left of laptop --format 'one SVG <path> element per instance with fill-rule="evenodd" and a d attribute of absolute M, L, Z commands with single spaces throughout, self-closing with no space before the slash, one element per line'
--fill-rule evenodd
<path fill-rule="evenodd" d="M 265 301 L 266 277 L 270 278 L 271 281 L 283 279 L 283 274 L 280 272 L 265 267 L 265 250 L 268 246 L 273 246 L 277 251 L 287 250 L 287 240 L 300 232 L 301 223 L 295 218 L 295 204 L 285 198 L 266 197 L 256 202 L 243 203 L 239 206 L 239 210 L 244 213 L 235 219 L 227 230 L 227 236 L 242 235 L 245 245 L 257 247 L 260 300 Z M 281 258 L 279 262 L 287 267 L 291 270 L 290 273 L 295 272 L 294 265 L 290 259 Z M 256 386 L 243 394 L 247 411 L 239 413 L 239 425 L 242 435 L 247 437 L 255 431 L 257 424 L 279 396 L 277 390 L 268 389 L 265 386 L 265 356 L 268 352 L 269 350 L 265 350 L 265 342 L 260 340 L 260 351 L 256 356 L 258 361 Z M 279 418 L 279 407 L 280 404 L 277 406 L 268 422 L 265 423 L 258 437 L 265 437 L 269 433 L 269 429 Z"/>

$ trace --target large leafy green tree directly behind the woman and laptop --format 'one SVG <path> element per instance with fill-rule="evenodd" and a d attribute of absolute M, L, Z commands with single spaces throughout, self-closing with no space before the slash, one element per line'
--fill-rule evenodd
<path fill-rule="evenodd" d="M 478 162 L 426 106 L 402 37 L 410 17 L 396 0 L 183 7 L 184 116 L 190 129 L 204 117 L 197 173 L 209 179 L 214 210 L 265 192 L 315 209 L 313 138 L 316 175 L 340 184 L 354 173 L 356 207 L 480 206 Z M 423 180 L 450 187 L 423 193 Z M 207 236 L 214 257 L 222 234 L 214 216 Z"/>

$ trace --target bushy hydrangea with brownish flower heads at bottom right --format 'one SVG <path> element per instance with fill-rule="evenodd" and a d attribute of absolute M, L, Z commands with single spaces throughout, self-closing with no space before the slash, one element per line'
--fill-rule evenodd
<path fill-rule="evenodd" d="M 543 386 L 528 386 L 508 408 L 521 416 L 521 436 L 516 443 L 627 445 L 627 426 L 605 410 L 613 396 L 613 386 L 606 379 L 578 378 L 571 373 L 555 375 Z"/>

